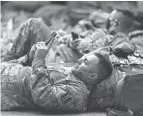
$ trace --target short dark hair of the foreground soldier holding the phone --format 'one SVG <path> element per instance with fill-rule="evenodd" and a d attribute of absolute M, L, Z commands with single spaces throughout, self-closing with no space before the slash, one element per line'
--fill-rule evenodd
<path fill-rule="evenodd" d="M 101 53 L 94 53 L 94 55 L 99 58 L 99 64 L 102 64 L 102 68 L 104 67 L 104 69 L 106 70 L 106 76 L 99 75 L 102 77 L 100 81 L 103 81 L 112 74 L 112 63 L 109 58 L 106 57 L 106 55 L 103 55 Z"/>

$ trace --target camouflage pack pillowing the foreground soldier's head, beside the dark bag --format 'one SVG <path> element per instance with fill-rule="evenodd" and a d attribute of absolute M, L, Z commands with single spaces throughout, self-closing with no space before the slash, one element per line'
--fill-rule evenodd
<path fill-rule="evenodd" d="M 98 52 L 103 52 L 102 50 Z M 106 108 L 114 107 L 115 89 L 118 81 L 126 75 L 142 72 L 143 58 L 140 55 L 140 53 L 135 52 L 128 56 L 128 60 L 118 58 L 114 54 L 109 55 L 114 68 L 112 75 L 98 84 L 93 90 L 93 93 L 89 97 L 89 110 L 105 110 Z"/>

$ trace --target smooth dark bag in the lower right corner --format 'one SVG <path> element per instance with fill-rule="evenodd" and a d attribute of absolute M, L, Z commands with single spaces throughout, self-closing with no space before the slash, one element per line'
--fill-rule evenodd
<path fill-rule="evenodd" d="M 128 75 L 117 83 L 115 109 L 130 109 L 143 116 L 143 73 Z"/>

